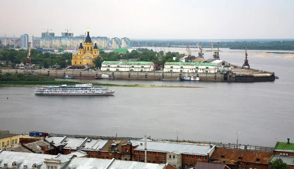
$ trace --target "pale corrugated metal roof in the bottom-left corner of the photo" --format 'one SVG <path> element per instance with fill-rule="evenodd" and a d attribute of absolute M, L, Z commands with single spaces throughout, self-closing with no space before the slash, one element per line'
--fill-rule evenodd
<path fill-rule="evenodd" d="M 27 165 L 27 168 L 31 169 L 34 163 L 42 163 L 39 167 L 44 169 L 44 160 L 45 158 L 54 158 L 55 155 L 49 154 L 37 154 L 37 153 L 27 153 L 27 152 L 14 152 L 14 151 L 4 151 L 0 150 L 0 166 L 4 166 L 4 163 L 7 163 L 8 168 L 13 168 L 12 163 L 14 161 L 20 162 L 18 168 L 23 168 L 24 165 Z"/>

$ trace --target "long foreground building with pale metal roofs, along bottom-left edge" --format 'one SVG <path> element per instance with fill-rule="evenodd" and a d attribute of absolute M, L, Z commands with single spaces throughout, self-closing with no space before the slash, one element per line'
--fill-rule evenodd
<path fill-rule="evenodd" d="M 75 155 L 48 155 L 0 150 L 0 169 L 175 169 L 170 164 L 150 164 Z"/>

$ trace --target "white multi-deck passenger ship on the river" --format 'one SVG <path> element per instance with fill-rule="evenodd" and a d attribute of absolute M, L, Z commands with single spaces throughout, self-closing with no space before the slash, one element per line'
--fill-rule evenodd
<path fill-rule="evenodd" d="M 114 90 L 93 84 L 75 84 L 74 86 L 43 86 L 35 90 L 36 95 L 113 95 Z"/>

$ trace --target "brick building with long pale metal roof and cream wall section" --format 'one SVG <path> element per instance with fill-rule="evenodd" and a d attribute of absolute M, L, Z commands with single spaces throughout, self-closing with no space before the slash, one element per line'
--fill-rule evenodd
<path fill-rule="evenodd" d="M 148 163 L 170 163 L 177 169 L 193 168 L 197 162 L 207 162 L 215 146 L 147 141 Z M 122 160 L 145 161 L 145 142 L 130 141 L 122 145 Z"/>

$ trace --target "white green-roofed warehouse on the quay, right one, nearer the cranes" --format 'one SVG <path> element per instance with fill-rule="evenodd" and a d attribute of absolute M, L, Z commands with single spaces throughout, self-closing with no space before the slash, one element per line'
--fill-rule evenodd
<path fill-rule="evenodd" d="M 217 63 L 198 63 L 198 62 L 166 62 L 164 72 L 175 73 L 217 73 Z"/>

